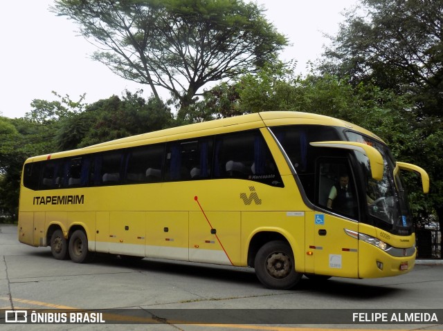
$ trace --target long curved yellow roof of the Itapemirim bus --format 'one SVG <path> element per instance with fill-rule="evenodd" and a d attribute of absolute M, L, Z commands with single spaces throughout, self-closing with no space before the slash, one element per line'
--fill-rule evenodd
<path fill-rule="evenodd" d="M 374 133 L 363 129 L 360 126 L 356 126 L 343 120 L 338 120 L 334 117 L 293 111 L 264 111 L 260 113 L 223 118 L 220 120 L 212 120 L 208 122 L 177 126 L 170 129 L 152 131 L 150 133 L 142 133 L 140 135 L 132 135 L 130 137 L 120 138 L 118 140 L 110 140 L 109 142 L 94 144 L 82 149 L 35 156 L 33 158 L 29 158 L 26 162 L 48 160 L 49 158 L 62 158 L 69 155 L 81 155 L 84 153 L 93 153 L 98 151 L 105 151 L 108 149 L 119 149 L 129 146 L 152 144 L 156 142 L 168 142 L 179 139 L 188 139 L 204 135 L 213 135 L 217 133 L 257 129 L 264 126 L 282 126 L 289 124 L 343 126 L 355 131 L 359 131 L 363 134 L 370 135 L 373 138 L 382 141 L 379 137 L 377 137 L 377 135 L 374 135 Z"/>

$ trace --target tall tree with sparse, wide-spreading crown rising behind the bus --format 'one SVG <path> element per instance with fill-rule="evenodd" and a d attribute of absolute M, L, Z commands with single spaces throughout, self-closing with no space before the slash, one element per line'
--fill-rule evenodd
<path fill-rule="evenodd" d="M 165 88 L 179 100 L 178 117 L 210 82 L 236 77 L 275 59 L 287 39 L 263 9 L 242 0 L 57 0 L 98 45 L 93 58 L 114 73 Z"/>

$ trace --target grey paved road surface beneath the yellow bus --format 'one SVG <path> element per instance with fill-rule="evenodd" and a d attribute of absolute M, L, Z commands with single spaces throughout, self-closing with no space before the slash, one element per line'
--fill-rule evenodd
<path fill-rule="evenodd" d="M 442 308 L 443 265 L 416 265 L 413 272 L 394 278 L 331 278 L 324 283 L 302 278 L 295 290 L 268 290 L 248 268 L 148 258 L 128 263 L 107 255 L 96 256 L 87 264 L 57 261 L 49 247 L 21 244 L 17 227 L 0 224 L 0 330 L 443 330 Z M 104 312 L 101 318 L 107 323 L 19 325 L 6 324 L 3 316 L 5 310 L 55 309 Z M 331 310 L 339 312 L 337 316 L 367 310 L 391 316 L 392 310 L 417 309 L 439 309 L 438 321 L 337 324 L 343 319 L 325 317 Z M 222 314 L 228 318 L 221 318 L 223 325 L 194 325 L 181 323 L 186 317 L 163 314 L 186 314 L 186 310 L 192 321 L 200 323 L 206 321 L 206 315 L 215 321 Z M 119 311 L 135 324 L 126 324 L 116 313 Z M 301 323 L 288 324 L 285 316 L 290 315 L 302 316 L 296 319 Z M 311 322 L 312 316 L 318 316 L 317 322 Z M 110 320 L 125 324 L 109 324 Z"/>

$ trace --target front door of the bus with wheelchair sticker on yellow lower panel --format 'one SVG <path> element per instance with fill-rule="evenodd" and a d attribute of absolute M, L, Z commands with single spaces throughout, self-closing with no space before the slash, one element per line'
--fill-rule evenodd
<path fill-rule="evenodd" d="M 358 276 L 356 185 L 347 158 L 320 158 L 316 162 L 316 205 L 307 213 L 306 245 L 314 258 L 314 273 Z M 309 258 L 309 253 L 307 258 Z M 309 264 L 307 264 L 309 265 Z"/>

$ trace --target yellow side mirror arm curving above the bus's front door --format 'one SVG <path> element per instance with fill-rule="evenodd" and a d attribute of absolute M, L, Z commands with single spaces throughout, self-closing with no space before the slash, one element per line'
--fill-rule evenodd
<path fill-rule="evenodd" d="M 314 147 L 330 147 L 334 149 L 350 149 L 358 151 L 369 159 L 371 167 L 371 175 L 374 180 L 381 180 L 383 178 L 383 157 L 380 152 L 368 144 L 361 142 L 311 142 Z"/>

